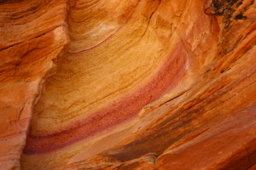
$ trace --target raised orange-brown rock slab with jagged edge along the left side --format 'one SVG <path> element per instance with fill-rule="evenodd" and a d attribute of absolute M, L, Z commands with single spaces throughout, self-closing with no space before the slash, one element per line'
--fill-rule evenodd
<path fill-rule="evenodd" d="M 20 169 L 33 105 L 69 42 L 66 8 L 60 1 L 0 3 L 0 169 Z"/>

